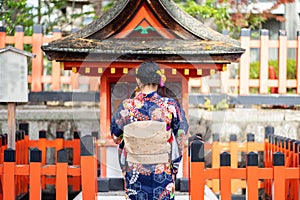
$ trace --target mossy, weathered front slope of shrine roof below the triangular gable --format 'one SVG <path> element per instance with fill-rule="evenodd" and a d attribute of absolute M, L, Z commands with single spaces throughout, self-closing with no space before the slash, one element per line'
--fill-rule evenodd
<path fill-rule="evenodd" d="M 233 54 L 244 49 L 225 42 L 180 39 L 64 39 L 56 40 L 42 49 L 78 53 L 142 53 L 142 54 Z"/>

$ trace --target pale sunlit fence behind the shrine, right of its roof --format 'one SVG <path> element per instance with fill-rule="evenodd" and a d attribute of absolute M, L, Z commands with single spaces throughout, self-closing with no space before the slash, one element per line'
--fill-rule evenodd
<path fill-rule="evenodd" d="M 295 33 L 296 34 L 296 33 Z M 225 94 L 240 94 L 249 95 L 250 88 L 257 88 L 259 94 L 269 94 L 269 88 L 278 88 L 279 94 L 286 94 L 288 88 L 293 88 L 295 94 L 300 94 L 300 34 L 297 33 L 296 40 L 287 40 L 285 31 L 279 31 L 277 40 L 269 39 L 269 31 L 261 30 L 260 37 L 253 40 L 250 37 L 249 29 L 242 29 L 240 37 L 241 47 L 246 51 L 242 55 L 239 62 L 239 73 L 237 78 L 230 78 L 230 72 L 221 72 L 218 78 L 200 78 L 192 79 L 190 81 L 191 88 L 199 88 L 199 92 L 207 94 L 218 89 L 218 92 Z M 270 60 L 270 49 L 277 49 L 278 51 L 278 78 L 274 79 L 273 74 L 270 73 L 268 61 Z M 259 51 L 259 78 L 250 78 L 250 50 L 258 49 Z M 296 51 L 296 79 L 287 79 L 287 58 L 288 49 L 295 49 Z M 228 68 L 230 66 L 228 65 Z"/>

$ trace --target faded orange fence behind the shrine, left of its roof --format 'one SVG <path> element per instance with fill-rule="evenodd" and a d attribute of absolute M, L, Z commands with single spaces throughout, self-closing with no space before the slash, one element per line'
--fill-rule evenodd
<path fill-rule="evenodd" d="M 60 63 L 52 61 L 50 64 L 41 49 L 42 44 L 49 43 L 62 37 L 58 29 L 54 29 L 52 35 L 47 36 L 42 33 L 42 26 L 33 27 L 32 36 L 24 36 L 22 26 L 17 26 L 14 36 L 6 36 L 5 28 L 0 27 L 0 48 L 6 45 L 24 50 L 31 50 L 36 55 L 32 59 L 31 70 L 28 74 L 28 83 L 30 91 L 72 91 L 80 88 L 80 85 L 87 85 L 89 91 L 95 91 L 98 87 L 98 78 L 79 78 L 77 73 L 62 71 Z M 51 67 L 47 67 L 50 65 Z M 47 70 L 50 69 L 50 74 Z"/>

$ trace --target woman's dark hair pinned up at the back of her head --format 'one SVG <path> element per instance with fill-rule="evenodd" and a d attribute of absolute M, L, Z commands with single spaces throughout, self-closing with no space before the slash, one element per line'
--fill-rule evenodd
<path fill-rule="evenodd" d="M 160 84 L 161 76 L 157 72 L 160 70 L 155 62 L 144 62 L 138 68 L 136 77 L 142 84 Z"/>

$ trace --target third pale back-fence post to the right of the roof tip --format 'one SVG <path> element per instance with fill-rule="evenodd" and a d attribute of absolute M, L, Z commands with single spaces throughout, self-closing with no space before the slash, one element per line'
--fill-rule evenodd
<path fill-rule="evenodd" d="M 278 93 L 286 93 L 287 79 L 287 36 L 286 32 L 279 31 L 279 49 L 278 49 Z"/>

